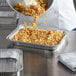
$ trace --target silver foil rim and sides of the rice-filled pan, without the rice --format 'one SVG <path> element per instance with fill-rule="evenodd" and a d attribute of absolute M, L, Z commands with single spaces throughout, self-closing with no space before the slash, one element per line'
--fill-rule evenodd
<path fill-rule="evenodd" d="M 11 40 L 11 38 L 19 32 L 20 29 L 24 28 L 23 24 L 22 25 L 18 25 L 18 27 L 11 33 L 9 34 L 6 39 L 7 40 L 10 40 L 12 42 L 14 42 L 14 44 L 16 44 L 17 46 L 21 46 L 21 47 L 27 47 L 27 48 L 35 48 L 35 49 L 41 49 L 41 50 L 55 50 L 61 43 L 57 44 L 57 45 L 54 45 L 54 46 L 49 46 L 49 45 L 41 45 L 41 44 L 34 44 L 34 43 L 27 43 L 27 42 L 22 42 L 22 41 L 16 41 L 16 40 Z M 42 28 L 39 28 L 39 29 L 42 29 Z M 43 28 L 44 29 L 44 28 Z M 47 28 L 48 29 L 48 28 Z M 67 33 L 67 30 L 58 30 L 58 29 L 50 29 L 50 30 L 57 30 L 57 31 L 60 31 L 60 32 L 63 32 L 65 35 Z"/>

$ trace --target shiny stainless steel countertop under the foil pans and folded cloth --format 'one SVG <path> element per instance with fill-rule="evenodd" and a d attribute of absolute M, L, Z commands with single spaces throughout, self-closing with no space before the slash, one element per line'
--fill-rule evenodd
<path fill-rule="evenodd" d="M 26 47 L 23 48 L 18 46 L 11 47 L 12 43 L 6 40 L 6 36 L 11 33 L 12 30 L 13 29 L 10 28 L 0 28 L 0 48 L 21 48 L 23 50 L 24 70 L 21 76 L 76 76 L 76 73 L 71 72 L 57 60 L 58 54 L 76 50 L 76 41 L 74 39 L 74 41 L 71 40 L 72 42 L 68 39 L 69 45 L 67 47 L 53 52 L 39 49 L 28 49 Z M 8 75 L 6 74 L 5 76 Z"/>

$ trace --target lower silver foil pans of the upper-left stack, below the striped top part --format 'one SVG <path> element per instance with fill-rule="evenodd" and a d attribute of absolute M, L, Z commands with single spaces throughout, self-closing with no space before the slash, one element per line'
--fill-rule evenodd
<path fill-rule="evenodd" d="M 0 25 L 16 25 L 18 22 L 17 14 L 14 11 L 0 11 Z"/>

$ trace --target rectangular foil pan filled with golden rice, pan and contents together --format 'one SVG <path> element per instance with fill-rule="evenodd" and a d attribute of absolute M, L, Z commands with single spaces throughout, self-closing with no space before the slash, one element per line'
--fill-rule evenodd
<path fill-rule="evenodd" d="M 7 39 L 19 46 L 54 50 L 61 43 L 66 33 L 65 30 L 44 30 L 41 28 L 35 30 L 32 27 L 25 28 L 24 25 L 19 25 L 7 36 Z"/>

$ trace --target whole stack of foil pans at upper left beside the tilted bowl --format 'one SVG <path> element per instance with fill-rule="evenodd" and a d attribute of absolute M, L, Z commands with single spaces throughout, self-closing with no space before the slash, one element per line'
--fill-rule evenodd
<path fill-rule="evenodd" d="M 0 27 L 17 26 L 19 15 L 7 4 L 6 0 L 0 0 Z"/>

